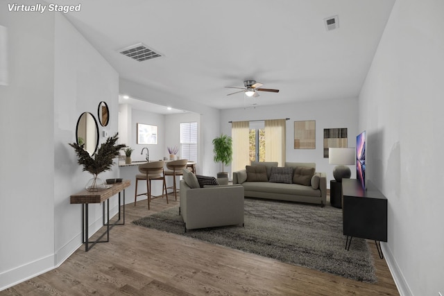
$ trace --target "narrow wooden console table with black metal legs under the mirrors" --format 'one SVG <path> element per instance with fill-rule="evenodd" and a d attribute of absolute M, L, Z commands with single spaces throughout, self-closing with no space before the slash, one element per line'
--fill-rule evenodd
<path fill-rule="evenodd" d="M 110 186 L 110 188 L 102 190 L 102 191 L 96 191 L 96 192 L 89 192 L 86 189 L 83 191 L 80 191 L 79 193 L 76 193 L 74 195 L 71 195 L 71 204 L 83 204 L 82 206 L 82 243 L 85 243 L 85 251 L 88 252 L 96 243 L 106 243 L 110 241 L 110 229 L 114 227 L 114 225 L 124 225 L 125 224 L 125 189 L 130 186 L 129 180 L 123 180 L 121 183 L 115 183 Z M 121 205 L 121 199 L 120 199 L 120 193 L 123 191 L 123 213 L 121 213 L 120 205 Z M 112 196 L 119 194 L 119 219 L 115 221 L 113 224 L 110 225 L 110 198 Z M 106 231 L 99 236 L 99 238 L 96 239 L 96 241 L 89 241 L 88 240 L 88 205 L 89 204 L 100 204 L 103 202 L 103 208 L 102 208 L 102 218 L 103 218 L 103 226 L 106 226 Z M 105 202 L 107 204 L 107 221 L 105 223 Z M 122 223 L 119 223 L 121 220 L 121 214 L 123 214 L 123 221 Z M 104 235 L 107 235 L 106 241 L 101 241 L 101 238 L 103 238 Z"/>

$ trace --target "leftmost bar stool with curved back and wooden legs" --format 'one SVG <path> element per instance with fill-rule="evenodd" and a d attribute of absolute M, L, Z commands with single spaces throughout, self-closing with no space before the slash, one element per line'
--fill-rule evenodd
<path fill-rule="evenodd" d="M 162 184 L 162 198 L 164 195 L 167 195 L 167 204 L 168 204 L 168 192 L 167 192 L 167 183 L 165 182 L 164 175 L 164 165 L 165 162 L 163 160 L 159 162 L 148 162 L 146 164 L 139 164 L 139 174 L 136 175 L 136 190 L 134 193 L 134 206 L 137 202 L 137 196 L 139 195 L 147 195 L 148 196 L 148 210 L 150 209 L 150 201 L 151 201 L 151 180 L 163 180 Z M 146 180 L 146 193 L 137 194 L 137 182 L 140 180 Z M 165 194 L 164 194 L 165 191 Z M 153 196 L 156 198 L 156 196 Z M 158 196 L 157 196 L 158 197 Z"/>

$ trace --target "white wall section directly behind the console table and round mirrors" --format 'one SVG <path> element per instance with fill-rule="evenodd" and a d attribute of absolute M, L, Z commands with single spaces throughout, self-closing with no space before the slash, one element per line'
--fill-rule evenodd
<path fill-rule="evenodd" d="M 69 195 L 85 188 L 92 175 L 77 164 L 74 149 L 68 143 L 76 141 L 76 123 L 83 112 L 98 119 L 98 107 L 105 101 L 110 109 L 110 122 L 99 124 L 99 146 L 117 130 L 119 112 L 119 76 L 106 60 L 76 31 L 65 16 L 56 14 L 54 42 L 54 218 L 56 264 L 62 263 L 82 243 L 81 205 L 69 204 Z M 118 177 L 113 171 L 99 174 L 102 180 Z M 117 198 L 110 200 L 110 209 L 117 211 Z M 89 206 L 89 234 L 102 224 L 101 205 Z"/>

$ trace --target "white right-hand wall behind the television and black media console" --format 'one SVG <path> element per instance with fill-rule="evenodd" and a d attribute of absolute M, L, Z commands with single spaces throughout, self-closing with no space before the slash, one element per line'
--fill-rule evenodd
<path fill-rule="evenodd" d="M 401 295 L 444 295 L 444 2 L 398 0 L 359 96 L 368 175 L 388 199 Z"/>

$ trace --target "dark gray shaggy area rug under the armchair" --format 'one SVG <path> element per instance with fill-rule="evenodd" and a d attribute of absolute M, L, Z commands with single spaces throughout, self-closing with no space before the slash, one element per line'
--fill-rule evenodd
<path fill-rule="evenodd" d="M 135 225 L 273 258 L 334 275 L 373 283 L 373 257 L 364 239 L 345 250 L 342 210 L 311 204 L 245 199 L 241 225 L 184 232 L 178 207 L 140 218 Z"/>

